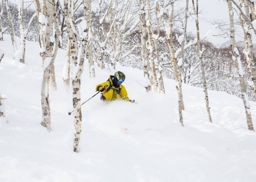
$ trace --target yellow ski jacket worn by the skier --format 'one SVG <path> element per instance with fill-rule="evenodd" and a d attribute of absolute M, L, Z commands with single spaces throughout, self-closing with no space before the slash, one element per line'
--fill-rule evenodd
<path fill-rule="evenodd" d="M 105 87 L 105 90 L 102 93 L 103 93 L 103 96 L 108 101 L 114 101 L 117 99 L 123 99 L 125 101 L 130 100 L 129 97 L 127 96 L 128 94 L 127 94 L 125 87 L 122 84 L 120 84 L 119 88 L 115 87 L 113 85 L 111 76 L 109 77 L 109 79 L 106 82 L 97 85 L 96 90 L 97 90 L 97 88 L 99 88 L 101 86 Z"/>

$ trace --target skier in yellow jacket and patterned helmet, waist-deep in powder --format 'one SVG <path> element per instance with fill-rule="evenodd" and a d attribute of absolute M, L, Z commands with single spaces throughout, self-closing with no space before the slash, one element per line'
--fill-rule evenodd
<path fill-rule="evenodd" d="M 101 92 L 100 99 L 102 101 L 114 101 L 122 99 L 125 101 L 131 101 L 127 96 L 127 91 L 122 83 L 125 81 L 125 74 L 123 72 L 116 72 L 114 75 L 110 75 L 109 79 L 96 86 L 96 90 Z"/>

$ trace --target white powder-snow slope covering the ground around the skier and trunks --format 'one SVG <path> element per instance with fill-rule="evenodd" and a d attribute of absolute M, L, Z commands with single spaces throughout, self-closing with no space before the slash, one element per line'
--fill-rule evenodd
<path fill-rule="evenodd" d="M 13 59 L 9 37 L 0 42 L 0 93 L 8 123 L 0 123 L 0 181 L 17 182 L 170 182 L 256 179 L 256 134 L 247 130 L 242 100 L 209 91 L 213 123 L 208 122 L 203 90 L 183 85 L 184 127 L 179 123 L 174 80 L 165 79 L 166 95 L 146 93 L 138 69 L 126 74 L 128 96 L 138 104 L 102 103 L 97 95 L 82 106 L 79 152 L 72 151 L 72 94 L 62 86 L 65 50 L 55 61 L 57 91 L 50 91 L 52 129 L 40 125 L 42 66 L 38 43 L 28 42 L 25 65 Z M 108 79 L 82 75 L 82 101 Z M 251 102 L 256 127 L 256 103 Z M 125 130 L 127 128 L 128 130 Z"/>

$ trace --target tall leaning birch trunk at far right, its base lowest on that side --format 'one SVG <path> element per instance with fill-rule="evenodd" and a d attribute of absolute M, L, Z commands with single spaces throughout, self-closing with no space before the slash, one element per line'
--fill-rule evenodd
<path fill-rule="evenodd" d="M 227 0 L 228 4 L 228 13 L 229 13 L 229 21 L 230 21 L 230 26 L 229 26 L 229 31 L 230 31 L 230 39 L 231 39 L 231 47 L 232 47 L 232 59 L 236 61 L 237 69 L 238 69 L 238 74 L 239 74 L 239 81 L 240 81 L 240 87 L 241 87 L 241 92 L 242 92 L 242 99 L 243 99 L 243 104 L 244 104 L 244 109 L 245 109 L 245 114 L 246 114 L 246 120 L 247 120 L 247 126 L 249 130 L 253 130 L 253 122 L 252 122 L 252 116 L 251 116 L 251 109 L 250 109 L 250 102 L 248 99 L 248 95 L 246 93 L 246 84 L 244 82 L 244 73 L 242 69 L 242 63 L 240 60 L 240 54 L 238 52 L 238 49 L 236 48 L 236 40 L 235 40 L 235 30 L 234 30 L 234 15 L 233 15 L 233 10 L 232 10 L 232 2 L 231 0 Z"/>

